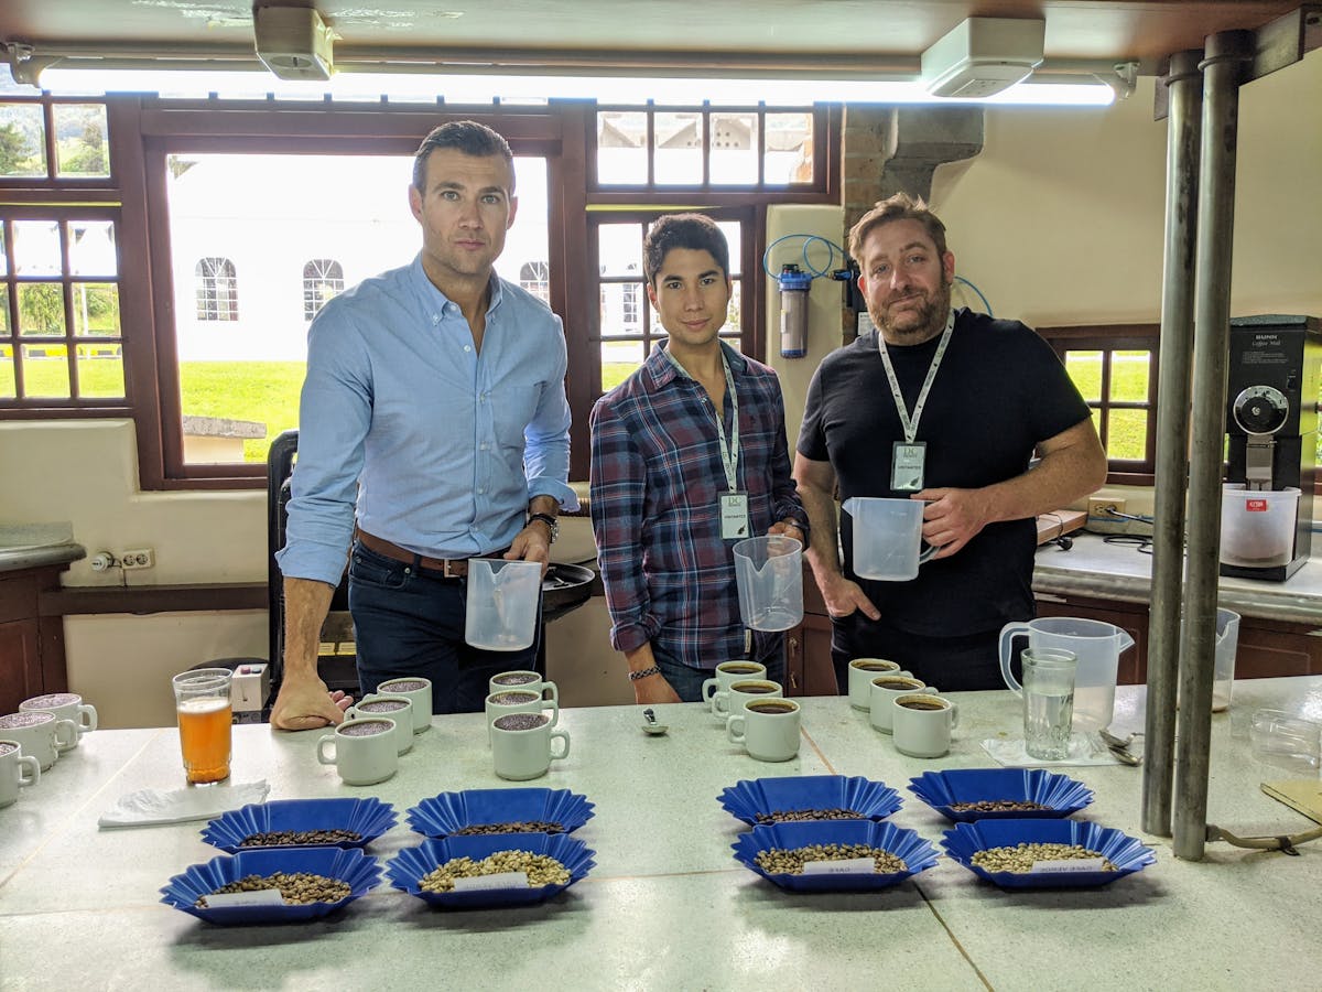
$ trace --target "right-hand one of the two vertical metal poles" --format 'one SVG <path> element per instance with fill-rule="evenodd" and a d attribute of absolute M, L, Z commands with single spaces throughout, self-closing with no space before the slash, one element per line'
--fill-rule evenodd
<path fill-rule="evenodd" d="M 1202 163 L 1198 181 L 1198 287 L 1194 311 L 1194 444 L 1188 487 L 1188 579 L 1179 667 L 1175 857 L 1199 861 L 1207 836 L 1207 774 L 1216 651 L 1225 356 L 1229 347 L 1231 245 L 1239 87 L 1253 34 L 1227 30 L 1204 46 Z"/>

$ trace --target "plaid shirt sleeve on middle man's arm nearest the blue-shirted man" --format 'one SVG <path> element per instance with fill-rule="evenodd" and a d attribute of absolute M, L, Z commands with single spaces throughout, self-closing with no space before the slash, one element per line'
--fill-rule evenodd
<path fill-rule="evenodd" d="M 661 623 L 650 612 L 642 575 L 642 509 L 646 466 L 628 425 L 605 401 L 592 407 L 590 503 L 598 563 L 611 612 L 611 644 L 633 651 L 650 641 Z"/>

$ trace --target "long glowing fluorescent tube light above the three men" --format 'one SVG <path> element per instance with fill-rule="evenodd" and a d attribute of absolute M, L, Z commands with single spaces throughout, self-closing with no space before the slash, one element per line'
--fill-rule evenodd
<path fill-rule="evenodd" d="M 1055 77 L 1060 79 L 1062 77 Z M 586 75 L 451 75 L 442 73 L 337 71 L 329 81 L 276 79 L 264 71 L 196 71 L 181 69 L 62 69 L 42 71 L 41 86 L 57 95 L 93 93 L 160 93 L 163 97 L 427 101 L 447 103 L 543 102 L 594 99 L 607 104 L 810 106 L 812 103 L 929 103 L 929 104 L 1068 104 L 1107 106 L 1114 91 L 1096 77 L 1079 82 L 1026 81 L 984 99 L 932 97 L 916 79 L 723 79 L 621 78 Z"/>

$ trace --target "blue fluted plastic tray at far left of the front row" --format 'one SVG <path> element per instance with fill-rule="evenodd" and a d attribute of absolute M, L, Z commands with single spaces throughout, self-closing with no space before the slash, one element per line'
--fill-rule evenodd
<path fill-rule="evenodd" d="M 338 902 L 312 902 L 305 906 L 226 906 L 200 909 L 193 903 L 223 885 L 250 874 L 309 872 L 349 884 L 349 894 Z M 315 919 L 349 905 L 381 882 L 381 865 L 361 848 L 268 848 L 219 854 L 204 865 L 193 865 L 161 889 L 161 902 L 219 926 L 243 923 L 295 923 Z"/>

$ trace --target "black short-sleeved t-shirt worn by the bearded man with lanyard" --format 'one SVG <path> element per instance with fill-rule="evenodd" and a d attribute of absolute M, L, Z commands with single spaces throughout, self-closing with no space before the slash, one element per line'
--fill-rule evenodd
<path fill-rule="evenodd" d="M 940 335 L 888 348 L 910 411 Z M 923 409 L 927 488 L 977 488 L 1029 468 L 1034 448 L 1089 417 L 1088 405 L 1051 347 L 1018 321 L 957 310 L 951 344 Z M 798 452 L 830 462 L 839 499 L 908 493 L 890 488 L 891 448 L 904 439 L 876 331 L 832 352 L 808 390 Z M 853 532 L 841 515 L 845 574 Z M 957 554 L 921 566 L 911 582 L 859 581 L 886 623 L 912 634 L 960 636 L 1034 615 L 1032 520 L 985 526 Z"/>

